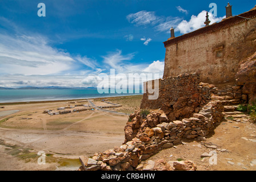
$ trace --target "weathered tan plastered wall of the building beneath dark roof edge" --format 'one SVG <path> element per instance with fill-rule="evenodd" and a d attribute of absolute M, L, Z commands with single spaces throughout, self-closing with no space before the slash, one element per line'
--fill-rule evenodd
<path fill-rule="evenodd" d="M 256 9 L 245 16 L 255 16 Z M 235 84 L 239 63 L 256 51 L 256 18 L 232 17 L 165 42 L 163 78 L 198 72 L 202 82 Z"/>

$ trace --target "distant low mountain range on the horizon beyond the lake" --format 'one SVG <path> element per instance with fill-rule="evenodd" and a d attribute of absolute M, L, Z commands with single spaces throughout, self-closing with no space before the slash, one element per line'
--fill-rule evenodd
<path fill-rule="evenodd" d="M 94 90 L 97 88 L 94 87 L 66 87 L 66 86 L 45 86 L 45 87 L 35 87 L 35 86 L 25 86 L 21 88 L 6 88 L 0 87 L 0 90 L 38 90 L 38 89 L 85 89 L 85 90 Z"/>

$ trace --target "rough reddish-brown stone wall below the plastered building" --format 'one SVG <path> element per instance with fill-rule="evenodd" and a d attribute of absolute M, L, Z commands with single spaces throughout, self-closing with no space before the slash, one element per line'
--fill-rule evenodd
<path fill-rule="evenodd" d="M 182 74 L 159 79 L 159 96 L 157 100 L 149 100 L 149 93 L 143 94 L 141 109 L 161 109 L 170 121 L 189 118 L 198 112 L 211 98 L 214 85 L 200 86 L 198 73 Z"/>

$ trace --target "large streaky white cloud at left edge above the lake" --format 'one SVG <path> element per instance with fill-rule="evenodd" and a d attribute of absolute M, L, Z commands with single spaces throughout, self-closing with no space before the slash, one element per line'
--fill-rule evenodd
<path fill-rule="evenodd" d="M 74 59 L 47 46 L 42 36 L 0 34 L 0 72 L 2 74 L 48 75 L 66 71 Z"/>

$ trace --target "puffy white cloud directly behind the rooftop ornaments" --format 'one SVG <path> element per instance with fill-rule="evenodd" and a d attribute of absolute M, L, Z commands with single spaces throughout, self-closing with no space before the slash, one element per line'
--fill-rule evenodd
<path fill-rule="evenodd" d="M 211 21 L 210 24 L 216 23 L 221 21 L 223 17 L 215 17 L 213 14 L 209 13 L 209 19 Z M 197 16 L 192 15 L 189 22 L 183 20 L 181 23 L 178 24 L 177 30 L 180 31 L 182 34 L 187 34 L 191 31 L 197 30 L 205 26 L 204 22 L 206 20 L 206 11 L 202 11 Z"/>

